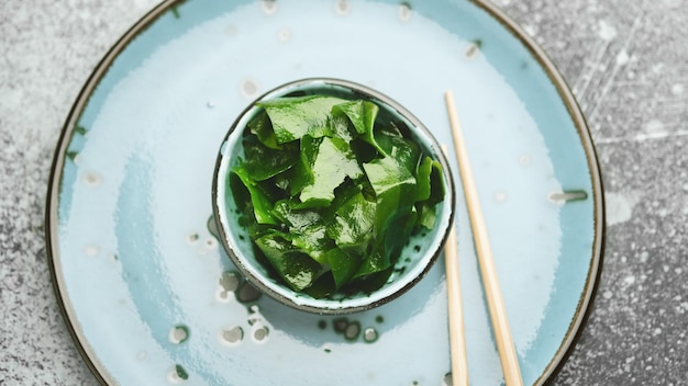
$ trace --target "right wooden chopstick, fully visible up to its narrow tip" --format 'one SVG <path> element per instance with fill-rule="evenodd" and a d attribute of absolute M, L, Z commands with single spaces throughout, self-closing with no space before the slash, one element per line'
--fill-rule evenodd
<path fill-rule="evenodd" d="M 519 359 L 513 345 L 513 339 L 511 338 L 504 300 L 501 295 L 495 261 L 492 260 L 492 249 L 490 248 L 485 218 L 480 209 L 478 191 L 473 178 L 473 171 L 470 170 L 466 143 L 464 141 L 458 114 L 456 113 L 454 94 L 451 90 L 446 91 L 445 101 L 450 115 L 450 125 L 452 126 L 452 135 L 454 137 L 456 160 L 458 161 L 458 169 L 464 185 L 464 195 L 466 196 L 466 204 L 468 206 L 468 217 L 470 218 L 480 275 L 485 287 L 485 297 L 490 311 L 490 319 L 492 320 L 492 330 L 495 340 L 497 341 L 499 360 L 501 361 L 501 368 L 504 373 L 507 386 L 522 386 L 523 379 L 519 367 Z"/>

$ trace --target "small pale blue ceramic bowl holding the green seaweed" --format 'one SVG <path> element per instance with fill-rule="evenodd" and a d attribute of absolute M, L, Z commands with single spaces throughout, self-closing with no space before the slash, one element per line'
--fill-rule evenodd
<path fill-rule="evenodd" d="M 326 298 L 313 298 L 295 292 L 282 284 L 256 258 L 253 241 L 247 230 L 241 226 L 240 216 L 229 186 L 229 174 L 237 158 L 243 154 L 242 133 L 260 107 L 255 105 L 263 100 L 279 96 L 329 94 L 343 99 L 366 99 L 375 102 L 380 112 L 386 111 L 410 128 L 412 139 L 422 150 L 442 164 L 446 194 L 437 204 L 437 218 L 432 230 L 414 234 L 397 259 L 395 271 L 380 288 L 373 293 L 334 294 Z M 399 103 L 370 88 L 339 79 L 303 79 L 280 86 L 251 103 L 232 124 L 220 148 L 213 175 L 213 212 L 222 245 L 236 269 L 255 287 L 274 299 L 300 310 L 318 314 L 346 314 L 362 311 L 382 305 L 399 297 L 417 284 L 441 254 L 451 229 L 455 206 L 454 183 L 451 168 L 436 139 L 430 130 Z"/>

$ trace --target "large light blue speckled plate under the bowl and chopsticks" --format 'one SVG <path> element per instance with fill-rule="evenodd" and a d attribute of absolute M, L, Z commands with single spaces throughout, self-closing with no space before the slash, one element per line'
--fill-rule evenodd
<path fill-rule="evenodd" d="M 213 236 L 211 180 L 226 129 L 264 91 L 310 77 L 371 87 L 445 144 L 443 93 L 454 90 L 524 382 L 546 382 L 601 270 L 597 159 L 542 50 L 492 5 L 467 0 L 166 1 L 123 36 L 65 124 L 46 209 L 55 290 L 97 378 L 448 382 L 443 264 L 387 305 L 325 317 L 245 285 Z M 470 382 L 500 385 L 457 193 Z"/>

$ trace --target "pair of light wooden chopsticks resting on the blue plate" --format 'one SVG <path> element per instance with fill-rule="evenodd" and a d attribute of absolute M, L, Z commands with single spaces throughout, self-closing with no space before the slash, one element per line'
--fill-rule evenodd
<path fill-rule="evenodd" d="M 509 320 L 507 319 L 507 310 L 504 300 L 501 295 L 499 280 L 495 261 L 492 260 L 492 250 L 487 236 L 487 227 L 476 183 L 470 170 L 468 154 L 466 152 L 466 144 L 464 135 L 458 122 L 458 114 L 454 103 L 454 94 L 446 91 L 445 101 L 450 115 L 450 125 L 452 126 L 452 135 L 454 137 L 454 148 L 456 151 L 456 160 L 460 172 L 462 183 L 464 185 L 464 194 L 468 206 L 468 217 L 470 218 L 470 227 L 473 229 L 473 238 L 475 240 L 478 264 L 480 266 L 480 275 L 482 276 L 482 285 L 485 287 L 485 297 L 487 299 L 490 319 L 492 320 L 492 330 L 495 340 L 497 341 L 497 350 L 499 360 L 501 361 L 502 372 L 507 386 L 522 386 L 521 370 L 519 368 L 519 360 L 517 357 L 515 348 L 511 338 Z M 466 337 L 464 332 L 464 317 L 460 300 L 459 271 L 458 271 L 458 252 L 456 229 L 452 228 L 445 247 L 445 263 L 447 279 L 447 298 L 450 315 L 450 348 L 452 355 L 452 379 L 454 386 L 468 385 L 468 363 L 466 355 Z"/>

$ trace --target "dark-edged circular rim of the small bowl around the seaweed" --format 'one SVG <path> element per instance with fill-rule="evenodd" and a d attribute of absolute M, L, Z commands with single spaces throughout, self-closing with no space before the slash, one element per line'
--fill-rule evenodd
<path fill-rule="evenodd" d="M 282 96 L 291 92 L 297 92 L 301 90 L 310 91 L 310 90 L 318 90 L 319 88 L 332 88 L 332 87 L 334 87 L 335 89 L 346 90 L 347 92 L 352 92 L 353 94 L 360 95 L 365 99 L 379 101 L 384 104 L 384 106 L 380 106 L 380 109 L 386 109 L 386 107 L 393 109 L 395 112 L 399 116 L 408 121 L 408 123 L 413 126 L 413 127 L 409 127 L 411 130 L 420 130 L 430 140 L 432 150 L 434 150 L 435 152 L 434 156 L 436 156 L 435 157 L 436 160 L 442 166 L 444 182 L 447 189 L 446 190 L 447 196 L 444 200 L 444 205 L 448 205 L 450 215 L 448 215 L 448 223 L 447 223 L 446 228 L 441 229 L 441 231 L 439 231 L 435 235 L 435 238 L 440 238 L 440 243 L 437 245 L 436 250 L 429 251 L 429 253 L 432 253 L 432 256 L 428 260 L 428 263 L 425 264 L 425 266 L 423 266 L 423 270 L 418 275 L 409 280 L 409 282 L 406 283 L 402 287 L 389 294 L 388 296 L 381 297 L 370 303 L 366 303 L 364 305 L 348 306 L 348 307 L 346 306 L 328 307 L 325 305 L 323 305 L 322 307 L 319 307 L 319 306 L 313 306 L 313 305 L 308 305 L 308 304 L 300 304 L 300 303 L 295 302 L 293 298 L 284 296 L 282 294 L 267 286 L 264 283 L 264 280 L 267 277 L 254 275 L 251 272 L 251 270 L 248 270 L 246 265 L 244 264 L 244 261 L 240 257 L 240 252 L 237 252 L 234 246 L 229 241 L 230 237 L 226 230 L 229 225 L 225 226 L 224 224 L 222 224 L 221 216 L 220 216 L 221 211 L 224 211 L 224 209 L 223 207 L 220 207 L 218 204 L 219 200 L 225 200 L 224 197 L 219 197 L 219 192 L 218 192 L 219 184 L 220 183 L 224 184 L 224 181 L 225 181 L 225 177 L 220 175 L 220 167 L 223 162 L 223 159 L 225 159 L 225 156 L 223 156 L 222 151 L 219 150 L 218 159 L 215 161 L 215 168 L 213 171 L 213 180 L 212 180 L 212 209 L 213 209 L 213 218 L 215 222 L 215 227 L 218 229 L 222 246 L 224 247 L 224 250 L 226 251 L 228 256 L 230 257 L 234 265 L 238 269 L 238 271 L 242 273 L 242 275 L 251 284 L 253 284 L 256 288 L 258 288 L 258 291 L 260 291 L 263 294 L 289 307 L 308 311 L 308 313 L 321 314 L 321 315 L 342 315 L 342 314 L 353 314 L 353 313 L 368 310 L 368 309 L 381 306 L 384 304 L 387 304 L 398 298 L 399 296 L 403 295 L 409 290 L 411 290 L 415 284 L 418 284 L 421 281 L 421 279 L 425 276 L 425 274 L 430 271 L 430 269 L 436 262 L 440 254 L 442 254 L 447 236 L 452 229 L 452 224 L 454 222 L 454 213 L 455 213 L 455 207 L 456 207 L 456 194 L 455 194 L 455 186 L 454 186 L 454 179 L 452 175 L 452 170 L 450 168 L 450 164 L 446 160 L 444 152 L 442 151 L 440 144 L 437 143 L 435 137 L 432 135 L 432 133 L 428 129 L 428 127 L 425 127 L 425 125 L 423 125 L 421 121 L 418 117 L 415 117 L 410 111 L 408 111 L 399 102 L 395 101 L 388 95 L 379 91 L 376 91 L 371 88 L 368 88 L 366 86 L 352 82 L 348 80 L 335 79 L 335 78 L 306 78 L 306 79 L 300 79 L 300 80 L 295 80 L 295 81 L 284 83 L 281 86 L 278 86 L 263 93 L 260 96 L 256 98 L 253 102 L 251 102 L 248 106 L 244 109 L 244 111 L 241 114 L 238 114 L 238 116 L 236 117 L 234 123 L 232 123 L 232 126 L 228 130 L 228 134 L 224 136 L 222 144 L 225 144 L 229 140 L 230 136 L 235 130 L 244 129 L 244 127 L 238 127 L 238 124 L 242 122 L 242 118 L 246 114 L 255 110 L 256 102 L 265 100 L 266 98 Z M 285 286 L 284 284 L 280 284 L 280 285 Z M 314 299 L 314 302 L 317 303 L 318 300 Z"/>

